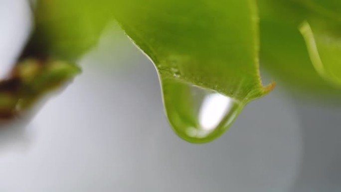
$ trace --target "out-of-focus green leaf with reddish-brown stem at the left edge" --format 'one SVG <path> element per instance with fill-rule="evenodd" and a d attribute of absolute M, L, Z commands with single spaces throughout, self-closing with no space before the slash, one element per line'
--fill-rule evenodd
<path fill-rule="evenodd" d="M 0 82 L 0 117 L 12 118 L 47 91 L 71 80 L 75 61 L 112 19 L 100 0 L 37 0 L 34 27 L 7 79 Z"/>

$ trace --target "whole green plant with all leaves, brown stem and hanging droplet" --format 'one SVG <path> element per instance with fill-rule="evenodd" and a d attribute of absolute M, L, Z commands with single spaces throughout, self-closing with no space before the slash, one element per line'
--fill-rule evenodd
<path fill-rule="evenodd" d="M 1 117 L 73 78 L 76 58 L 112 19 L 156 65 L 170 123 L 189 142 L 215 139 L 274 87 L 261 84 L 259 62 L 290 88 L 340 94 L 339 0 L 38 0 L 34 15 L 31 38 L 0 83 Z M 217 99 L 222 108 L 206 125 L 202 114 Z"/>

